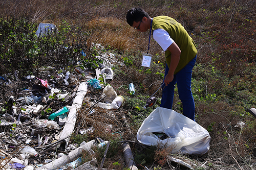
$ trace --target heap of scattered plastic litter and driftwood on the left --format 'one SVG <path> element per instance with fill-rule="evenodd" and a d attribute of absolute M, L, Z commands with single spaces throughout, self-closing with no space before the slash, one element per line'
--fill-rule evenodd
<path fill-rule="evenodd" d="M 129 126 L 123 126 L 125 115 L 119 111 L 124 98 L 108 84 L 114 76 L 109 62 L 114 60 L 109 57 L 114 55 L 104 54 L 105 65 L 96 72 L 47 67 L 40 69 L 38 76 L 22 80 L 18 71 L 14 76 L 1 75 L 0 85 L 10 87 L 6 91 L 12 94 L 0 99 L 1 168 L 75 168 L 82 151 L 93 153 L 93 145 L 109 144 L 106 134 L 120 141 L 131 135 Z M 99 72 L 104 85 L 98 79 Z M 77 134 L 88 134 L 90 141 L 71 144 L 70 137 Z M 99 134 L 102 136 L 95 136 Z"/>

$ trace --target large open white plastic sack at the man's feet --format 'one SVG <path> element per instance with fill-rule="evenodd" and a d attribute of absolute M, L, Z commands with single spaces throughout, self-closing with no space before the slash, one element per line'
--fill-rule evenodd
<path fill-rule="evenodd" d="M 165 133 L 168 138 L 161 140 L 154 132 Z M 158 107 L 143 121 L 137 140 L 146 145 L 172 145 L 172 153 L 205 154 L 209 150 L 210 135 L 190 118 Z"/>

